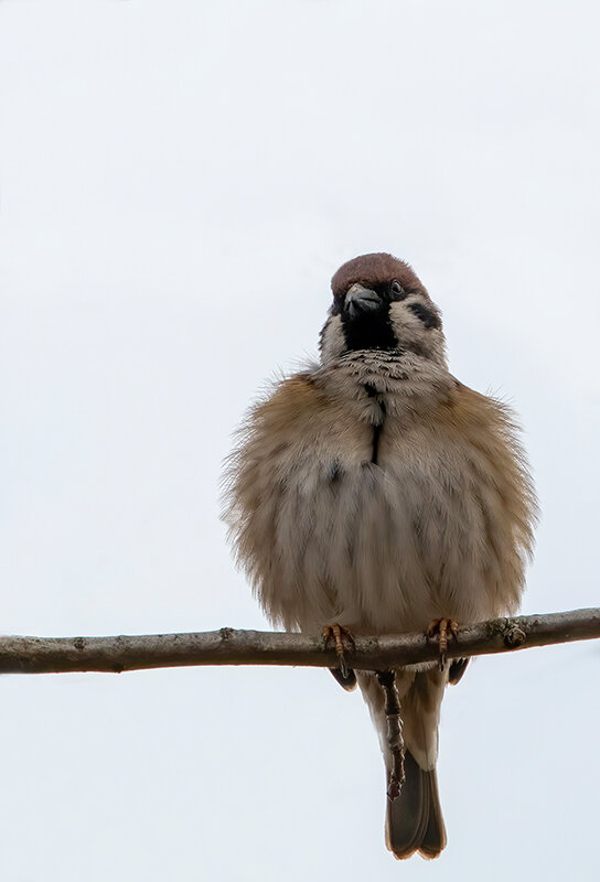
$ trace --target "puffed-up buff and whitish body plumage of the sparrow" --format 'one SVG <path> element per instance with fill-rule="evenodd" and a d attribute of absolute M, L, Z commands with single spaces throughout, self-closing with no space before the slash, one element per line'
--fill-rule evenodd
<path fill-rule="evenodd" d="M 251 410 L 225 519 L 275 623 L 381 633 L 516 607 L 536 506 L 512 413 L 431 369 L 297 374 Z"/>

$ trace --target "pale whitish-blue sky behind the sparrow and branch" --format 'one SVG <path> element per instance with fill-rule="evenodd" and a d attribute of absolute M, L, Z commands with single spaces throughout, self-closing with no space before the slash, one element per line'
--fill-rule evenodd
<path fill-rule="evenodd" d="M 0 3 L 3 633 L 266 626 L 222 460 L 371 250 L 526 427 L 524 610 L 598 604 L 599 26 L 572 0 Z M 470 666 L 448 848 L 403 864 L 366 708 L 323 671 L 4 676 L 0 878 L 596 879 L 599 665 Z"/>

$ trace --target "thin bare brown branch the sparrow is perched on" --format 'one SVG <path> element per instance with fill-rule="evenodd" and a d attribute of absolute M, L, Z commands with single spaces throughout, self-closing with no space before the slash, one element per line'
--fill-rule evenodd
<path fill-rule="evenodd" d="M 600 609 L 495 619 L 460 627 L 448 657 L 490 655 L 600 637 Z M 345 653 L 349 667 L 385 670 L 438 658 L 425 634 L 355 637 Z M 262 631 L 149 634 L 119 637 L 0 637 L 0 673 L 142 670 L 193 665 L 298 665 L 338 667 L 335 649 L 320 635 Z"/>

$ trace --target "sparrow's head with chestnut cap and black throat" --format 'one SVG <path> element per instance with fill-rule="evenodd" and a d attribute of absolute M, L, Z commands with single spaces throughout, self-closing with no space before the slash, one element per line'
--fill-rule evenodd
<path fill-rule="evenodd" d="M 321 332 L 323 364 L 358 349 L 413 352 L 446 366 L 441 314 L 413 269 L 392 255 L 344 263 L 331 280 L 333 304 Z"/>

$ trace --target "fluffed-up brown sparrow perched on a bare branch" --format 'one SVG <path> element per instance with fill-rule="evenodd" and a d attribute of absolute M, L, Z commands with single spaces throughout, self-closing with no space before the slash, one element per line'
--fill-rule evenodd
<path fill-rule="evenodd" d="M 226 460 L 224 519 L 265 613 L 287 631 L 333 628 L 342 647 L 436 628 L 441 644 L 457 623 L 513 614 L 538 517 L 514 412 L 450 373 L 441 312 L 409 263 L 362 255 L 331 288 L 319 359 L 272 381 Z M 404 782 L 385 836 L 397 859 L 446 847 L 440 706 L 465 667 L 395 670 Z M 389 779 L 377 675 L 334 674 L 358 684 Z"/>

